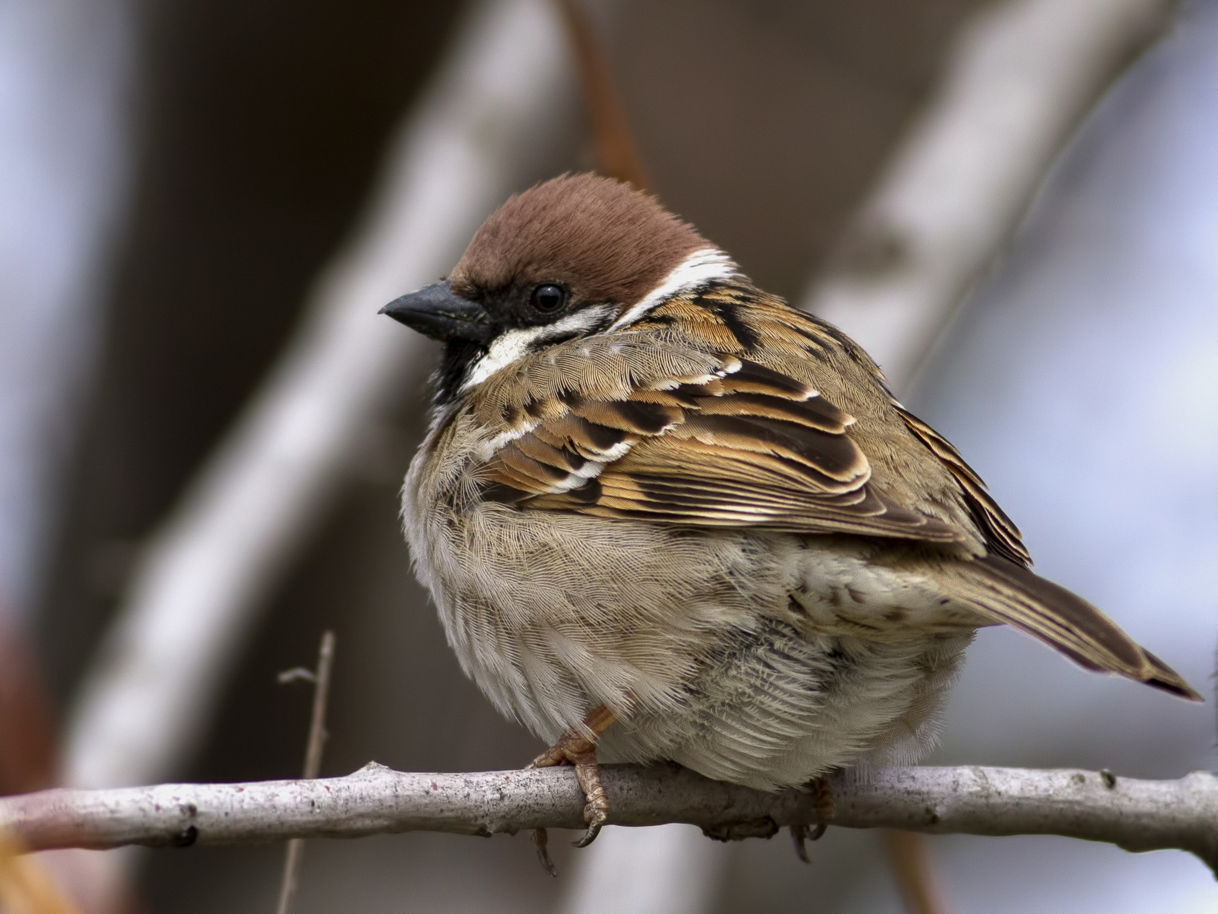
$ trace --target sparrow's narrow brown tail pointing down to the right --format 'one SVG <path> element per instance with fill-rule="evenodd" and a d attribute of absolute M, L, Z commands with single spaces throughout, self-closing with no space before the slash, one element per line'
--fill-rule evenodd
<path fill-rule="evenodd" d="M 1085 669 L 1116 673 L 1189 701 L 1203 701 L 1175 670 L 1130 639 L 1079 596 L 999 556 L 957 565 L 966 570 L 966 600 L 994 622 L 1006 623 Z"/>

